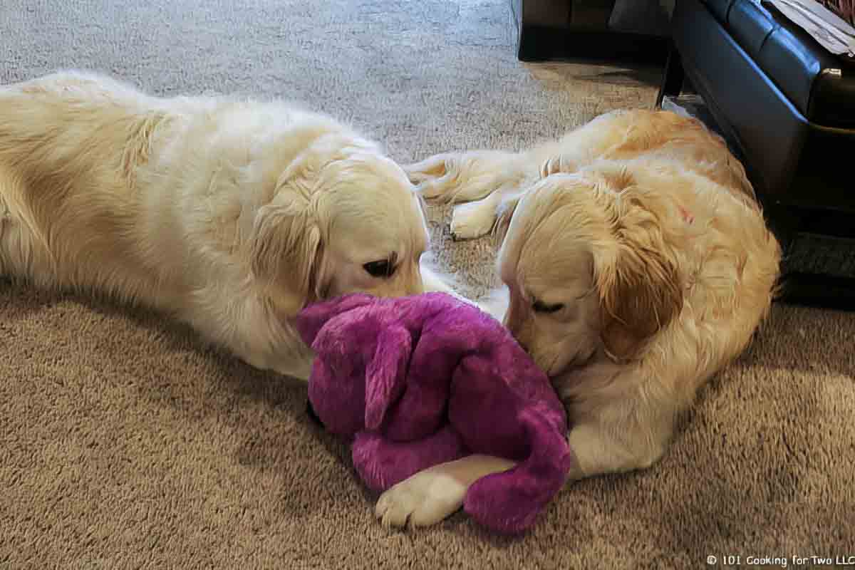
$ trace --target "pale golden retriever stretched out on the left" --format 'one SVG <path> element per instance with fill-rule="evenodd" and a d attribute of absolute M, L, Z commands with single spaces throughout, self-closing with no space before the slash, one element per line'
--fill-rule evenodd
<path fill-rule="evenodd" d="M 0 86 L 0 275 L 174 314 L 305 378 L 288 323 L 350 291 L 442 289 L 422 203 L 379 147 L 280 102 L 152 97 L 96 73 Z"/>

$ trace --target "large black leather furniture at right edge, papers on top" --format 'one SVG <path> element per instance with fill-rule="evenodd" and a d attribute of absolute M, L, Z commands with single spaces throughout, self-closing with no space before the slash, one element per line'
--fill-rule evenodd
<path fill-rule="evenodd" d="M 855 61 L 752 0 L 678 0 L 672 39 L 658 103 L 689 79 L 745 163 L 785 253 L 805 235 L 838 250 L 817 273 L 785 262 L 788 294 L 831 306 L 855 297 L 842 271 L 855 260 Z"/>

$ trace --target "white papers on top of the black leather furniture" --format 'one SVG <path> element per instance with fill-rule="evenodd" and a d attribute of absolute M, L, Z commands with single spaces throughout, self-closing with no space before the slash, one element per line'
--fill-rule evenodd
<path fill-rule="evenodd" d="M 817 0 L 763 0 L 836 56 L 855 57 L 855 28 Z"/>

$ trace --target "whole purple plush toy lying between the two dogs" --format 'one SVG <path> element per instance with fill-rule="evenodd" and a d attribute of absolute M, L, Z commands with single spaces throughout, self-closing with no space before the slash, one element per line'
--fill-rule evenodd
<path fill-rule="evenodd" d="M 564 408 L 510 332 L 443 293 L 339 297 L 296 326 L 315 350 L 309 399 L 330 432 L 353 438 L 374 491 L 470 454 L 517 466 L 478 479 L 464 510 L 498 532 L 522 532 L 562 487 L 573 455 Z"/>

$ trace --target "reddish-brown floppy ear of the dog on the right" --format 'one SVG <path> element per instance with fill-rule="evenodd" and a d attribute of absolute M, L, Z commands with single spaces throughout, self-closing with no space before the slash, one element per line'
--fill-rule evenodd
<path fill-rule="evenodd" d="M 652 213 L 633 197 L 622 200 L 630 210 L 617 216 L 615 239 L 595 250 L 594 284 L 603 309 L 605 349 L 616 360 L 628 361 L 680 314 L 683 294 L 661 236 L 644 223 Z"/>

